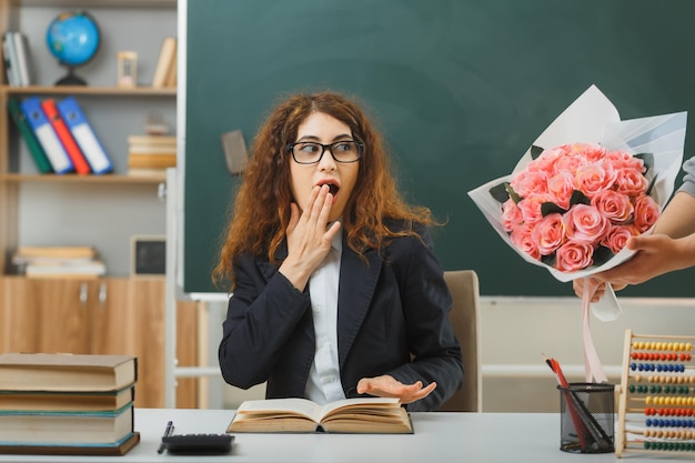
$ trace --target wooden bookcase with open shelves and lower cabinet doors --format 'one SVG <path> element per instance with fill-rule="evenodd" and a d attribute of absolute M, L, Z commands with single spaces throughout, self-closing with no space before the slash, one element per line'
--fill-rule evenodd
<path fill-rule="evenodd" d="M 66 73 L 49 53 L 48 24 L 67 10 L 88 10 L 101 43 L 94 59 L 75 73 L 88 85 L 53 83 Z M 177 89 L 151 88 L 162 39 L 177 36 L 177 0 L 0 0 L 0 32 L 28 37 L 32 84 L 7 84 L 0 77 L 0 351 L 134 353 L 142 370 L 138 406 L 164 404 L 165 279 L 130 275 L 130 238 L 167 230 L 162 177 L 128 177 L 131 134 L 144 133 L 155 112 L 175 129 Z M 117 87 L 117 52 L 138 52 L 134 88 Z M 0 58 L 2 51 L 0 50 Z M 0 61 L 2 62 L 2 61 Z M 74 97 L 109 153 L 113 173 L 41 174 L 7 111 L 10 98 Z M 19 245 L 92 245 L 107 263 L 97 281 L 27 279 L 14 274 Z M 177 304 L 181 365 L 197 364 L 194 303 Z M 30 320 L 22 314 L 31 314 Z M 29 316 L 29 315 L 28 315 Z M 60 323 L 70 324 L 67 336 Z M 41 333 L 41 334 L 38 334 Z M 178 401 L 195 406 L 195 381 L 181 380 Z M 142 392 L 141 392 L 142 390 Z"/>

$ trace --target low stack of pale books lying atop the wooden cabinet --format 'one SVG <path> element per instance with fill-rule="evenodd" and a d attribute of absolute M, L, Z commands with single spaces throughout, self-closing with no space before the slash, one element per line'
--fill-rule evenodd
<path fill-rule="evenodd" d="M 12 263 L 28 278 L 95 279 L 107 273 L 91 246 L 20 246 Z"/>

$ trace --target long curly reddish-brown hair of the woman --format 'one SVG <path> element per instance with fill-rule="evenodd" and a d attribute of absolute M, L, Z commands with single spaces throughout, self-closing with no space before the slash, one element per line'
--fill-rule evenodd
<path fill-rule="evenodd" d="M 275 251 L 290 222 L 290 203 L 294 201 L 288 144 L 295 141 L 299 127 L 314 112 L 345 123 L 353 138 L 364 143 L 357 180 L 341 219 L 352 250 L 362 254 L 366 249 L 381 249 L 393 238 L 416 235 L 414 222 L 434 223 L 427 208 L 409 205 L 403 200 L 391 174 L 382 137 L 355 101 L 331 91 L 293 94 L 272 110 L 253 140 L 226 238 L 212 271 L 218 288 L 234 289 L 236 255 L 266 255 L 270 262 L 275 262 Z M 390 219 L 406 227 L 389 228 Z"/>

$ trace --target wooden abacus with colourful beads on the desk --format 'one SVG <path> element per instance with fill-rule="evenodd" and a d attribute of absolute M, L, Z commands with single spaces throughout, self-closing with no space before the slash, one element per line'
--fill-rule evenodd
<path fill-rule="evenodd" d="M 625 332 L 615 454 L 695 457 L 695 363 L 691 336 Z"/>

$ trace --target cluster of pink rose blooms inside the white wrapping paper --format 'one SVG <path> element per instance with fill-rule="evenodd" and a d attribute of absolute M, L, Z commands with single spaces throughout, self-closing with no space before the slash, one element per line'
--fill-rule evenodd
<path fill-rule="evenodd" d="M 514 246 L 560 272 L 602 265 L 659 215 L 649 197 L 651 155 L 596 143 L 548 150 L 493 189 Z M 645 162 L 646 159 L 646 162 Z"/>

